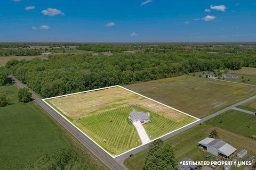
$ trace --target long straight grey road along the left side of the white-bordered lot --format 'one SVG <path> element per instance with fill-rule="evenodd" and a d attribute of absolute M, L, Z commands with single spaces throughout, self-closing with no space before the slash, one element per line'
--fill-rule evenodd
<path fill-rule="evenodd" d="M 19 88 L 25 87 L 19 80 L 10 76 Z M 99 148 L 95 143 L 93 143 L 89 138 L 87 138 L 82 132 L 78 131 L 73 125 L 55 112 L 51 107 L 46 105 L 41 98 L 32 93 L 32 97 L 35 102 L 41 106 L 49 115 L 51 115 L 58 123 L 60 123 L 67 131 L 69 131 L 74 137 L 80 141 L 87 149 L 89 149 L 92 154 L 97 156 L 107 167 L 110 169 L 121 170 L 126 169 L 124 166 L 119 165 L 111 156 L 109 156 L 105 151 Z"/>

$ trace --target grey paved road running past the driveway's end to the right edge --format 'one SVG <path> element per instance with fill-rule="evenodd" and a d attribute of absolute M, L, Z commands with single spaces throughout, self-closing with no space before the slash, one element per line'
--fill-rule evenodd
<path fill-rule="evenodd" d="M 250 98 L 248 98 L 248 99 L 245 99 L 245 100 L 243 100 L 243 101 L 240 101 L 240 102 L 238 102 L 238 103 L 236 103 L 236 104 L 234 104 L 234 105 L 231 105 L 231 106 L 229 106 L 229 107 L 226 107 L 226 108 L 222 109 L 221 111 L 218 111 L 218 112 L 215 112 L 215 113 L 213 113 L 213 114 L 211 114 L 211 115 L 209 115 L 209 116 L 206 116 L 206 117 L 202 118 L 200 121 L 195 122 L 195 123 L 193 123 L 193 124 L 190 124 L 190 125 L 186 126 L 185 128 L 182 128 L 182 129 L 180 129 L 180 130 L 178 130 L 178 131 L 175 131 L 175 132 L 173 132 L 173 133 L 171 133 L 171 134 L 168 134 L 168 135 L 166 135 L 165 137 L 163 137 L 163 138 L 161 138 L 161 139 L 162 139 L 162 140 L 166 140 L 166 139 L 168 139 L 168 138 L 171 138 L 171 137 L 173 137 L 174 135 L 176 135 L 176 134 L 178 134 L 178 133 L 181 133 L 181 132 L 186 131 L 186 130 L 188 130 L 188 129 L 190 129 L 190 128 L 193 128 L 194 126 L 196 126 L 196 125 L 198 125 L 198 124 L 200 124 L 200 123 L 203 123 L 203 122 L 205 122 L 205 121 L 207 121 L 207 120 L 210 120 L 211 118 L 213 118 L 213 117 L 215 117 L 215 116 L 218 116 L 218 115 L 220 115 L 220 114 L 222 114 L 222 113 L 224 113 L 224 112 L 226 112 L 226 111 L 228 111 L 228 110 L 230 110 L 230 109 L 232 109 L 232 108 L 234 108 L 234 107 L 237 107 L 237 106 L 239 106 L 239 105 L 242 105 L 242 104 L 244 104 L 244 103 L 246 103 L 246 102 L 248 102 L 248 101 L 251 101 L 251 100 L 253 100 L 253 99 L 256 99 L 256 95 L 253 96 L 253 97 L 250 97 Z M 125 153 L 125 154 L 123 154 L 123 155 L 121 155 L 121 156 L 115 158 L 115 160 L 116 160 L 119 164 L 123 164 L 124 160 L 125 160 L 126 158 L 128 158 L 131 154 L 137 154 L 138 152 L 140 152 L 140 151 L 142 151 L 142 150 L 144 150 L 144 149 L 147 149 L 149 145 L 150 145 L 150 143 L 148 143 L 148 144 L 145 145 L 145 146 L 141 146 L 141 147 L 139 147 L 139 148 L 137 148 L 137 149 L 134 149 L 134 150 L 132 150 L 132 151 L 130 151 L 130 152 L 127 152 L 127 153 Z"/>

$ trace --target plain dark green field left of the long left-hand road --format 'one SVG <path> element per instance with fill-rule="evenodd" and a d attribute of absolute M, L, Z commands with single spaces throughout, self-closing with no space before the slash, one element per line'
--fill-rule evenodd
<path fill-rule="evenodd" d="M 82 150 L 68 132 L 50 118 L 34 101 L 18 103 L 18 88 L 15 85 L 0 86 L 0 93 L 7 94 L 13 103 L 0 107 L 0 165 L 1 169 L 23 169 L 44 154 L 60 149 Z M 83 148 L 84 150 L 84 148 Z M 89 151 L 92 163 L 107 169 Z"/>

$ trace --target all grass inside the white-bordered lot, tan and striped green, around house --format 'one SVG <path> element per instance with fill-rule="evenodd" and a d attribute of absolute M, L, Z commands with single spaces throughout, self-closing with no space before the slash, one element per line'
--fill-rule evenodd
<path fill-rule="evenodd" d="M 150 113 L 152 120 L 144 125 L 150 139 L 196 121 L 119 87 L 53 98 L 47 102 L 113 155 L 141 145 L 136 129 L 129 122 L 132 109 Z M 133 103 L 138 107 L 133 107 Z"/>

